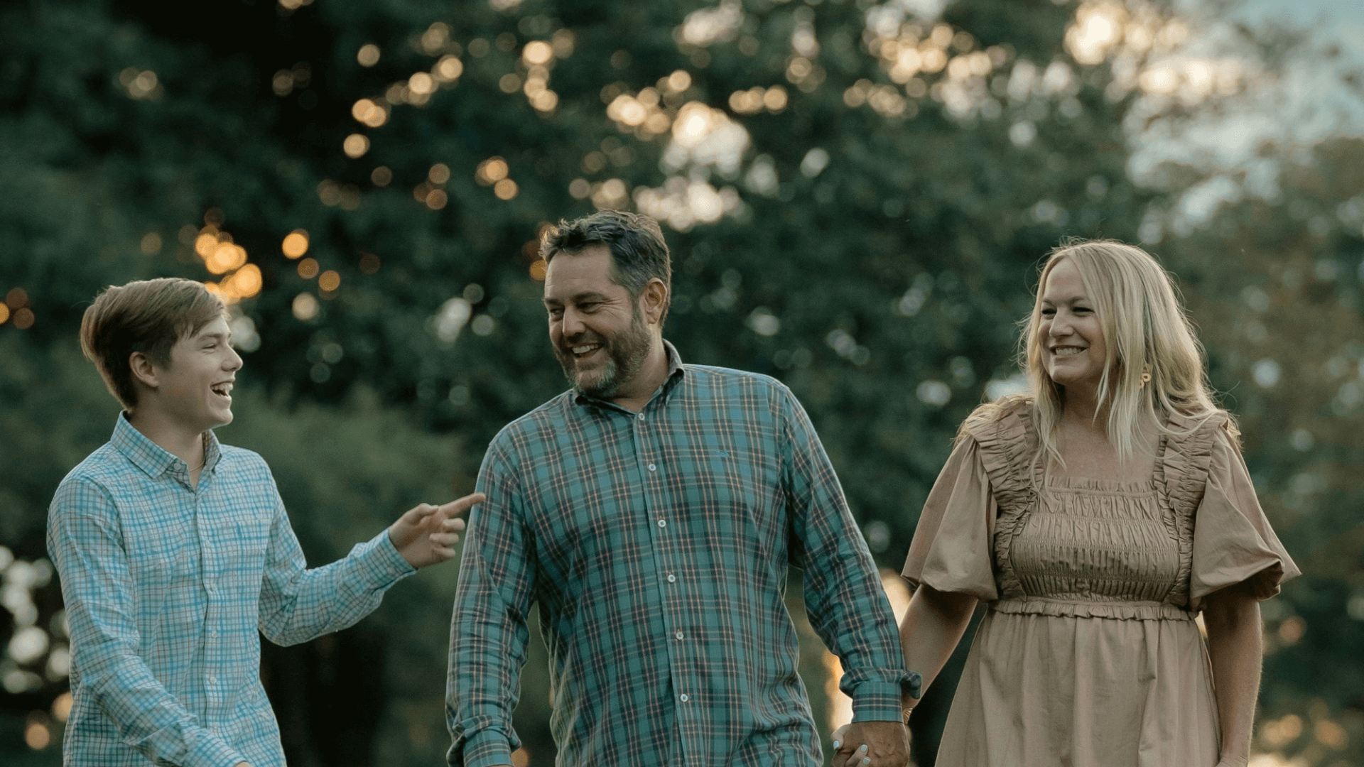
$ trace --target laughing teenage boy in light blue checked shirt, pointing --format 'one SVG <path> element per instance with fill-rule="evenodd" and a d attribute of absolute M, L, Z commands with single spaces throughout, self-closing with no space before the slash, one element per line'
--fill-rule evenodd
<path fill-rule="evenodd" d="M 222 303 L 191 280 L 109 288 L 80 345 L 123 404 L 109 442 L 57 489 L 48 550 L 71 629 L 65 764 L 284 766 L 261 637 L 346 628 L 416 568 L 443 562 L 483 500 L 420 506 L 306 569 L 274 478 L 220 445 L 241 358 Z"/>

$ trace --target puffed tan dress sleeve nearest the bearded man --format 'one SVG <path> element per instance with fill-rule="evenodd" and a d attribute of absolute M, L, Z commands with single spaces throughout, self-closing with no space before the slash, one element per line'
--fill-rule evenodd
<path fill-rule="evenodd" d="M 998 599 L 990 565 L 994 516 L 979 444 L 963 437 L 923 504 L 902 575 L 915 588 L 926 583 L 938 591 Z"/>

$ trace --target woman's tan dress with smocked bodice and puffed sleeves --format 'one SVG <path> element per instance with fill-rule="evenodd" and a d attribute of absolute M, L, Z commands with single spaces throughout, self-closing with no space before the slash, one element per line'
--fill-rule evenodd
<path fill-rule="evenodd" d="M 1147 482 L 1043 484 L 1030 409 L 958 444 L 904 564 L 915 587 L 989 609 L 938 767 L 1214 767 L 1217 704 L 1194 616 L 1219 588 L 1245 581 L 1264 599 L 1299 575 L 1226 416 L 1163 437 Z"/>

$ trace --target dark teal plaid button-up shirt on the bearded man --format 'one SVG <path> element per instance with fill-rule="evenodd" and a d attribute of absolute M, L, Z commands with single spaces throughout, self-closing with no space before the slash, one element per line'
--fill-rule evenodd
<path fill-rule="evenodd" d="M 451 626 L 450 764 L 512 763 L 532 602 L 561 767 L 818 764 L 788 564 L 855 719 L 900 718 L 917 676 L 805 411 L 772 378 L 667 349 L 638 414 L 566 392 L 488 448 Z"/>

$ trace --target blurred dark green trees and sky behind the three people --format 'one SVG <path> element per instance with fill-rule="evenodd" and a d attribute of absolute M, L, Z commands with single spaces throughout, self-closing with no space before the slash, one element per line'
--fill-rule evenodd
<path fill-rule="evenodd" d="M 322 564 L 471 490 L 492 434 L 565 388 L 537 236 L 627 207 L 672 248 L 666 336 L 795 390 L 898 607 L 958 423 L 1019 385 L 1039 258 L 1155 252 L 1307 573 L 1263 606 L 1252 764 L 1364 764 L 1361 70 L 1357 0 L 0 5 L 0 762 L 60 763 L 44 524 L 117 414 L 76 344 L 101 288 L 183 276 L 232 303 L 220 435 L 266 457 Z M 266 643 L 291 764 L 443 763 L 457 577 Z M 799 594 L 797 572 L 832 729 L 839 665 Z M 517 760 L 547 766 L 535 652 Z M 921 767 L 953 686 L 915 717 Z"/>

